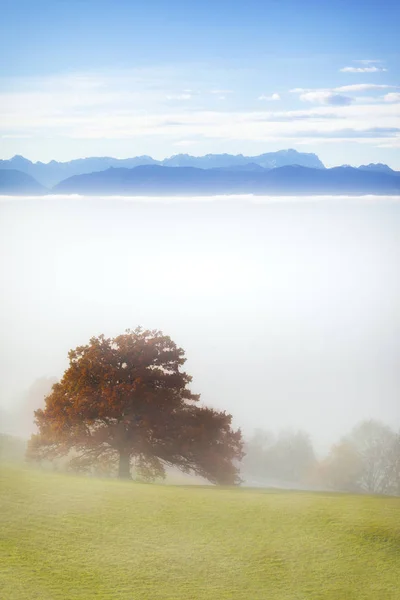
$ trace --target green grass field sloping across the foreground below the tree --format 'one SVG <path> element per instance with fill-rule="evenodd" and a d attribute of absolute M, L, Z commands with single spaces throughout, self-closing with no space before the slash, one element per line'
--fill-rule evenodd
<path fill-rule="evenodd" d="M 0 468 L 1 600 L 399 600 L 400 499 Z"/>

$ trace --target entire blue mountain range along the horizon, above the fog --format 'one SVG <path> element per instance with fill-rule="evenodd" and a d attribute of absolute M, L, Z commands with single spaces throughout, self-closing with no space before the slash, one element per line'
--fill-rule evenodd
<path fill-rule="evenodd" d="M 297 162 L 290 162 L 291 160 Z M 118 166 L 107 166 L 110 161 Z M 137 161 L 147 161 L 147 164 L 136 165 Z M 279 161 L 288 164 L 279 166 Z M 191 162 L 203 166 L 191 166 Z M 301 165 L 299 162 L 310 162 L 314 166 Z M 185 163 L 190 166 L 185 166 Z M 5 168 L 10 164 L 20 169 Z M 101 166 L 103 168 L 100 169 Z M 61 170 L 64 169 L 65 175 L 68 170 L 76 170 L 78 167 L 80 171 L 88 168 L 95 170 L 67 176 L 47 188 L 35 180 L 31 173 L 27 173 L 34 169 L 48 168 L 48 177 L 55 177 L 56 172 L 59 177 Z M 42 175 L 44 172 L 42 170 Z M 9 161 L 0 161 L 0 194 L 41 195 L 50 189 L 56 194 L 83 195 L 397 195 L 400 194 L 400 172 L 383 164 L 362 165 L 358 168 L 344 165 L 328 169 L 316 155 L 294 150 L 257 157 L 228 154 L 203 157 L 177 155 L 161 162 L 143 156 L 122 160 L 87 158 L 70 163 L 52 161 L 47 164 L 32 163 L 19 156 Z"/>

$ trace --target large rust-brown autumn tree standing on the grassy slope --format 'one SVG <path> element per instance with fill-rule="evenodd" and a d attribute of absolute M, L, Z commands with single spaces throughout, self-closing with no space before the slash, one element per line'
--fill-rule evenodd
<path fill-rule="evenodd" d="M 53 385 L 31 459 L 74 455 L 71 468 L 118 463 L 129 478 L 132 464 L 145 479 L 165 476 L 165 465 L 213 483 L 239 482 L 240 430 L 231 415 L 198 405 L 181 370 L 184 351 L 159 331 L 127 330 L 116 338 L 93 337 L 69 352 L 69 367 Z"/>

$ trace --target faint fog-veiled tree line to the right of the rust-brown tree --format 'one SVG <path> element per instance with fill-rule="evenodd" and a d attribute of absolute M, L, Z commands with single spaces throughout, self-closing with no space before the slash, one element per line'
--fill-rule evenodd
<path fill-rule="evenodd" d="M 379 421 L 359 423 L 322 459 L 302 431 L 257 430 L 244 450 L 248 485 L 400 495 L 400 432 Z"/>

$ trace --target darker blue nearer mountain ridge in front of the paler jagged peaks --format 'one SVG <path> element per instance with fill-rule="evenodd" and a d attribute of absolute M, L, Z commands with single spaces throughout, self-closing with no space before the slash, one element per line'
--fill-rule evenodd
<path fill-rule="evenodd" d="M 400 177 L 354 167 L 225 170 L 142 165 L 75 175 L 53 188 L 61 194 L 199 196 L 218 194 L 400 194 Z"/>

